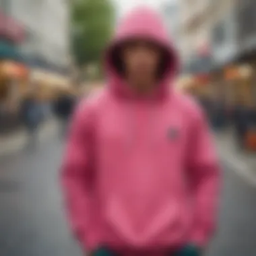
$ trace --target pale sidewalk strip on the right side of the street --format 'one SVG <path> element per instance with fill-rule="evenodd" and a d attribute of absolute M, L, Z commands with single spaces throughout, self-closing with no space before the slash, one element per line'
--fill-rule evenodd
<path fill-rule="evenodd" d="M 256 185 L 256 153 L 238 150 L 232 129 L 215 133 L 214 137 L 220 160 L 228 168 L 241 174 L 247 181 Z"/>

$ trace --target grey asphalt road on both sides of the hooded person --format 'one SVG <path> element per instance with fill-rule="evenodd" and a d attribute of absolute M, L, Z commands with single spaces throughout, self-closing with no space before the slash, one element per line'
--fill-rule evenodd
<path fill-rule="evenodd" d="M 58 185 L 62 143 L 0 160 L 0 255 L 79 256 L 65 222 Z M 207 256 L 256 255 L 256 187 L 224 168 L 220 224 Z"/>

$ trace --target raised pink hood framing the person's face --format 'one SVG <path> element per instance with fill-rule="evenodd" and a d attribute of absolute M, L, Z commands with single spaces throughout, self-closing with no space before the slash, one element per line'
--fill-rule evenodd
<path fill-rule="evenodd" d="M 160 67 L 161 77 L 154 95 L 164 96 L 170 90 L 179 63 L 177 51 L 170 42 L 169 34 L 164 28 L 162 19 L 152 9 L 139 7 L 131 11 L 119 22 L 116 34 L 106 51 L 106 73 L 109 79 L 110 90 L 119 96 L 134 96 L 130 87 L 125 84 L 121 75 L 120 46 L 133 39 L 150 40 L 160 46 L 164 51 L 164 59 Z"/>

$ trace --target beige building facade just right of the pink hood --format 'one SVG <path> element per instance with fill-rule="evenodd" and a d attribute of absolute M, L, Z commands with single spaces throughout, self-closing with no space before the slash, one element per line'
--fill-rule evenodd
<path fill-rule="evenodd" d="M 181 38 L 185 62 L 201 52 L 210 51 L 212 28 L 220 16 L 230 9 L 232 0 L 182 0 Z M 204 53 L 203 53 L 204 54 Z"/>

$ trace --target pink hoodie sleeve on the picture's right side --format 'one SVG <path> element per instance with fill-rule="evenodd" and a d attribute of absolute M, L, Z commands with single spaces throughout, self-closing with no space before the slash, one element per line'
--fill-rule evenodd
<path fill-rule="evenodd" d="M 219 165 L 212 134 L 203 111 L 197 107 L 191 123 L 188 167 L 195 222 L 190 242 L 204 247 L 216 224 Z"/>

